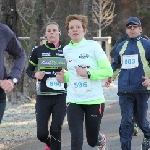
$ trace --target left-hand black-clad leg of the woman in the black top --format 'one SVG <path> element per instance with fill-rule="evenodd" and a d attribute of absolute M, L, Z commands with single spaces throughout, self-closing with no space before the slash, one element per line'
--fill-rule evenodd
<path fill-rule="evenodd" d="M 48 122 L 51 115 L 51 99 L 46 96 L 38 95 L 36 99 L 36 122 L 37 137 L 41 142 L 50 147 L 50 137 L 48 131 Z"/>

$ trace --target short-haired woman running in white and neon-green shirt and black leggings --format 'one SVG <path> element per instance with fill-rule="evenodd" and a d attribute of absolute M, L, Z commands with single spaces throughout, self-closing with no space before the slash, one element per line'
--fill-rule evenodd
<path fill-rule="evenodd" d="M 84 38 L 88 20 L 83 15 L 69 15 L 66 29 L 70 43 L 63 49 L 68 72 L 58 72 L 57 80 L 67 82 L 67 119 L 71 132 L 71 150 L 82 150 L 83 121 L 87 142 L 98 150 L 106 149 L 98 142 L 105 98 L 101 79 L 112 76 L 110 62 L 100 44 Z M 65 73 L 65 74 L 64 74 Z"/>

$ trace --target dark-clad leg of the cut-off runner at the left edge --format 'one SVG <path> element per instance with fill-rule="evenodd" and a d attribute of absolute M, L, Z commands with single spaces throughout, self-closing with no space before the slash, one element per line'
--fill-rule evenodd
<path fill-rule="evenodd" d="M 6 93 L 0 89 L 0 124 L 6 107 Z"/>

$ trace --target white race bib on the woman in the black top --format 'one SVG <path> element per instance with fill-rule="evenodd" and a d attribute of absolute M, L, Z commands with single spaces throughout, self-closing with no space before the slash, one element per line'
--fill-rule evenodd
<path fill-rule="evenodd" d="M 56 78 L 47 78 L 46 86 L 52 88 L 53 90 L 65 90 L 64 83 L 57 82 Z"/>

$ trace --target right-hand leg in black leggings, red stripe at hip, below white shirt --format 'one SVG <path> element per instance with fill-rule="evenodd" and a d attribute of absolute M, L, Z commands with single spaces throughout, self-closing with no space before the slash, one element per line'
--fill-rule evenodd
<path fill-rule="evenodd" d="M 103 108 L 102 108 L 103 106 Z M 87 105 L 85 109 L 85 126 L 87 142 L 91 147 L 97 146 L 100 123 L 104 105 Z"/>

